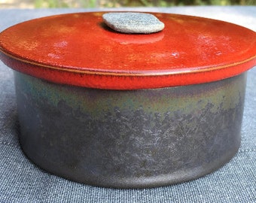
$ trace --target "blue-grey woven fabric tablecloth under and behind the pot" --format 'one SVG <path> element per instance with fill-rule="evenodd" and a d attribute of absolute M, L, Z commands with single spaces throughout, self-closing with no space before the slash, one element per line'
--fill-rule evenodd
<path fill-rule="evenodd" d="M 126 8 L 127 9 L 127 8 Z M 131 10 L 131 9 L 129 9 Z M 0 32 L 35 17 L 93 9 L 0 9 Z M 256 31 L 256 7 L 133 8 L 190 14 Z M 232 31 L 230 31 L 232 32 Z M 18 141 L 14 77 L 0 62 L 0 202 L 256 202 L 256 68 L 248 71 L 242 144 L 224 167 L 206 177 L 153 189 L 108 189 L 56 177 L 23 155 Z"/>

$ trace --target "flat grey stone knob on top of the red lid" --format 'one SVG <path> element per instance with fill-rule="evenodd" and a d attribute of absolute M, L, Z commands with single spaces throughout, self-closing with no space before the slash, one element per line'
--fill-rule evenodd
<path fill-rule="evenodd" d="M 111 29 L 123 33 L 150 34 L 164 28 L 164 24 L 153 14 L 119 12 L 103 14 L 102 18 Z"/>

